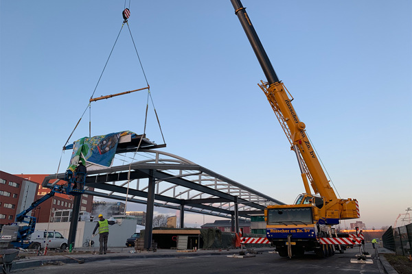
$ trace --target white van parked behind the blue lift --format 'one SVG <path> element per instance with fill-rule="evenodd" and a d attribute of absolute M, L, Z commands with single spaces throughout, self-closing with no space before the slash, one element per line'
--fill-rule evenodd
<path fill-rule="evenodd" d="M 32 242 L 32 244 L 30 244 L 29 249 L 38 249 L 38 244 L 40 244 L 41 248 L 44 249 L 46 247 L 47 242 L 49 242 L 49 245 L 47 245 L 47 249 L 65 250 L 67 248 L 67 238 L 63 237 L 62 234 L 60 234 L 60 232 L 48 233 L 49 235 L 47 235 L 47 232 L 45 230 L 35 230 L 32 233 L 32 235 L 30 235 L 27 239 L 30 242 Z"/>

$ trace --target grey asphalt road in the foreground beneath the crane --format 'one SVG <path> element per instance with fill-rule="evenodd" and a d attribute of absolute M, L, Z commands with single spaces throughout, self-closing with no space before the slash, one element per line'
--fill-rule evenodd
<path fill-rule="evenodd" d="M 281 258 L 278 254 L 264 252 L 255 258 L 227 258 L 226 256 L 179 256 L 176 258 L 139 258 L 101 260 L 84 264 L 64 264 L 61 266 L 40 266 L 34 269 L 13 271 L 27 274 L 65 274 L 65 273 L 383 273 L 378 258 L 372 256 L 374 264 L 352 264 L 356 249 L 344 254 L 336 253 L 325 259 L 318 259 L 314 253 L 306 253 L 301 258 Z"/>

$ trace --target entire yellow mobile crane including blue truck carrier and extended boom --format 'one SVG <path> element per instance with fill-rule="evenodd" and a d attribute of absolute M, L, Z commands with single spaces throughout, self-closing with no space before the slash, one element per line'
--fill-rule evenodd
<path fill-rule="evenodd" d="M 332 225 L 339 224 L 340 220 L 360 217 L 358 202 L 336 197 L 306 135 L 306 125 L 293 108 L 293 97 L 277 78 L 251 19 L 240 0 L 231 0 L 231 3 L 266 76 L 267 82 L 259 86 L 295 151 L 305 186 L 305 193 L 299 195 L 293 205 L 268 206 L 264 210 L 266 238 L 282 257 L 303 255 L 305 251 L 315 251 L 321 258 L 330 256 L 334 247 L 323 239 L 332 237 Z"/>

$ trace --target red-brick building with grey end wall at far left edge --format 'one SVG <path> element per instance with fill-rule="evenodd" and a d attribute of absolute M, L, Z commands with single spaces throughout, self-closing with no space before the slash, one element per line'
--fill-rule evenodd
<path fill-rule="evenodd" d="M 14 223 L 16 214 L 36 201 L 37 191 L 35 182 L 0 171 L 0 227 Z"/>

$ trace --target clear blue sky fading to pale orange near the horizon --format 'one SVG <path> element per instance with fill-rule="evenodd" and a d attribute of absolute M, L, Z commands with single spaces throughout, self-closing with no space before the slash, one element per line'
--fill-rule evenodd
<path fill-rule="evenodd" d="M 339 195 L 358 199 L 367 226 L 393 225 L 412 206 L 411 1 L 242 3 Z M 124 1 L 0 2 L 2 171 L 57 171 L 123 9 Z M 304 192 L 299 168 L 230 1 L 131 1 L 130 11 L 163 150 L 292 203 Z M 144 86 L 125 26 L 95 97 Z M 92 135 L 142 133 L 146 96 L 95 102 Z M 146 134 L 162 142 L 152 108 Z M 88 135 L 89 112 L 70 142 Z M 65 153 L 60 172 L 68 161 Z"/>

